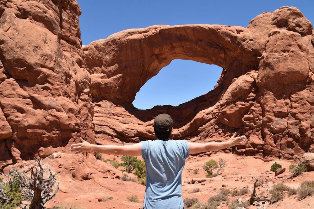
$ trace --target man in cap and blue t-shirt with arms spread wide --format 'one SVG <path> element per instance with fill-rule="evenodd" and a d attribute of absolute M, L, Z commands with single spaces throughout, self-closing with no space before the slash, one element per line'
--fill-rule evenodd
<path fill-rule="evenodd" d="M 182 209 L 184 207 L 181 190 L 181 173 L 189 154 L 215 151 L 241 144 L 245 136 L 236 133 L 226 142 L 191 143 L 183 140 L 169 140 L 172 118 L 160 114 L 154 120 L 157 140 L 139 142 L 133 145 L 95 145 L 82 138 L 82 143 L 72 144 L 71 151 L 78 154 L 94 151 L 106 154 L 142 155 L 146 165 L 146 190 L 143 208 Z"/>

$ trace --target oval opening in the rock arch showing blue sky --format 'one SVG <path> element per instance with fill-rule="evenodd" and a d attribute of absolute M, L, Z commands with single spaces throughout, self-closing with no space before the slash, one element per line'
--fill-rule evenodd
<path fill-rule="evenodd" d="M 134 107 L 178 106 L 214 89 L 222 68 L 192 60 L 175 59 L 137 92 Z"/>

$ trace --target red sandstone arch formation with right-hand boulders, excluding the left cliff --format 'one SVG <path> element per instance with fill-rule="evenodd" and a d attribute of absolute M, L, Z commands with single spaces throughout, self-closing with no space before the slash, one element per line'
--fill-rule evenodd
<path fill-rule="evenodd" d="M 295 7 L 265 12 L 247 28 L 155 25 L 83 47 L 95 102 L 96 141 L 154 138 L 153 118 L 174 118 L 173 138 L 249 138 L 236 153 L 300 158 L 314 152 L 312 24 Z M 223 67 L 213 91 L 177 107 L 138 110 L 136 93 L 173 59 Z M 220 139 L 221 140 L 221 139 Z"/>

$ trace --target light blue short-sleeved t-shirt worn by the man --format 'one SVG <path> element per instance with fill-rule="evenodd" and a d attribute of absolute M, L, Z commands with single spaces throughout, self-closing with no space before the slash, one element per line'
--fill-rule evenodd
<path fill-rule="evenodd" d="M 143 208 L 183 208 L 181 174 L 188 156 L 187 141 L 149 140 L 142 142 L 142 157 L 146 165 Z"/>

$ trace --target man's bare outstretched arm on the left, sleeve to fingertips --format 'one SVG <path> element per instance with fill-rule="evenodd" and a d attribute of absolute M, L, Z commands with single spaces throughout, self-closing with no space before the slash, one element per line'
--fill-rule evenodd
<path fill-rule="evenodd" d="M 142 155 L 142 143 L 139 142 L 137 144 L 132 145 L 97 145 L 90 144 L 87 141 L 84 141 L 81 138 L 81 143 L 72 144 L 71 151 L 75 152 L 75 154 L 81 152 L 99 152 L 104 154 L 122 154 L 122 155 L 132 155 L 132 156 L 140 156 Z"/>

